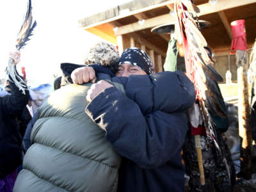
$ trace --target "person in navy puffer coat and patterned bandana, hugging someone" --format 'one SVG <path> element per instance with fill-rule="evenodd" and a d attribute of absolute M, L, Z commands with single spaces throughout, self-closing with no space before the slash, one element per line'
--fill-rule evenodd
<path fill-rule="evenodd" d="M 79 70 L 83 69 L 75 70 L 76 75 L 72 73 L 74 82 L 86 76 Z M 99 81 L 86 96 L 90 102 L 87 115 L 106 131 L 106 139 L 123 157 L 118 191 L 184 191 L 180 156 L 188 131 L 184 111 L 195 102 L 195 88 L 182 73 L 152 75 L 153 72 L 154 65 L 145 52 L 127 49 L 118 61 L 117 77 L 112 80 L 125 82 L 127 95 L 108 82 Z M 163 81 L 165 86 L 159 89 L 156 77 L 166 73 L 177 77 L 173 78 L 176 81 Z M 127 79 L 131 75 L 135 76 Z M 148 75 L 147 80 L 144 75 Z M 177 87 L 182 87 L 190 99 L 184 99 Z M 173 90 L 172 99 L 164 97 L 169 90 Z M 170 108 L 168 102 L 173 100 L 177 104 L 184 102 L 187 108 Z"/>

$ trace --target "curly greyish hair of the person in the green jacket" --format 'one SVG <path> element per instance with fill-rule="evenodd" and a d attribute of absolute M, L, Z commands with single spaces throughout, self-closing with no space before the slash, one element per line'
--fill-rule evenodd
<path fill-rule="evenodd" d="M 119 52 L 115 45 L 108 42 L 97 42 L 93 45 L 84 58 L 84 65 L 99 64 L 108 67 L 112 72 L 117 70 Z"/>

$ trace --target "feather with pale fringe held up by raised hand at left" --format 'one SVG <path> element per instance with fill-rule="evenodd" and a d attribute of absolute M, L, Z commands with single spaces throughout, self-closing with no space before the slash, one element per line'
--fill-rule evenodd
<path fill-rule="evenodd" d="M 26 42 L 28 42 L 29 40 L 29 36 L 32 35 L 32 31 L 36 26 L 36 21 L 33 22 L 33 24 L 32 22 L 33 22 L 33 17 L 32 17 L 31 0 L 28 0 L 28 8 L 26 11 L 26 15 L 24 15 L 22 26 L 20 28 L 20 31 L 16 40 L 15 47 L 17 51 L 20 51 L 20 49 L 22 49 L 26 45 Z M 12 81 L 15 83 L 15 85 L 19 88 L 19 90 L 22 90 L 22 93 L 25 94 L 26 83 L 20 76 L 18 76 L 17 71 L 15 69 L 14 61 L 11 58 L 9 59 L 6 73 L 10 77 L 12 77 Z"/>

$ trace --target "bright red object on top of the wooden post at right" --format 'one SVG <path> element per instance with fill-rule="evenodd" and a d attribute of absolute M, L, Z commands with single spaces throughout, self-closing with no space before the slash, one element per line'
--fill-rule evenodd
<path fill-rule="evenodd" d="M 236 52 L 237 49 L 246 51 L 247 43 L 246 43 L 246 29 L 244 25 L 244 20 L 235 20 L 231 22 L 232 35 L 233 40 L 231 44 L 232 52 Z"/>

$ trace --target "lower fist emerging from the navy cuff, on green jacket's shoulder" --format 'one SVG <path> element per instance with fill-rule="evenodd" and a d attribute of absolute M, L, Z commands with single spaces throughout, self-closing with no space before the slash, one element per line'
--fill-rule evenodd
<path fill-rule="evenodd" d="M 101 80 L 95 84 L 92 84 L 92 86 L 87 92 L 86 100 L 88 102 L 91 102 L 94 99 L 94 97 L 96 97 L 100 92 L 102 92 L 103 90 L 106 90 L 106 88 L 109 88 L 111 86 L 113 85 L 104 80 Z"/>

